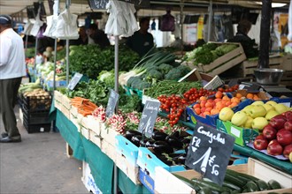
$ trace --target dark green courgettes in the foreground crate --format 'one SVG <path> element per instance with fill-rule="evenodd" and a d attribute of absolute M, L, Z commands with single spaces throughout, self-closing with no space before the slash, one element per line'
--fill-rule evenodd
<path fill-rule="evenodd" d="M 281 189 L 280 183 L 273 178 L 265 182 L 256 176 L 240 173 L 228 168 L 222 186 L 213 183 L 207 178 L 199 179 L 194 177 L 189 180 L 181 175 L 173 175 L 188 184 L 197 193 L 247 193 Z"/>

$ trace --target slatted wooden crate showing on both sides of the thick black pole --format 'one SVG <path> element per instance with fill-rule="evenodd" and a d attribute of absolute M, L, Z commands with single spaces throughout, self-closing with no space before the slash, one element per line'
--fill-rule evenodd
<path fill-rule="evenodd" d="M 269 66 L 271 69 L 282 69 L 282 63 L 284 61 L 284 57 L 282 56 L 271 56 L 269 58 Z M 242 62 L 240 69 L 242 71 L 241 75 L 242 78 L 249 77 L 254 75 L 254 70 L 257 69 L 258 60 L 247 60 Z"/>

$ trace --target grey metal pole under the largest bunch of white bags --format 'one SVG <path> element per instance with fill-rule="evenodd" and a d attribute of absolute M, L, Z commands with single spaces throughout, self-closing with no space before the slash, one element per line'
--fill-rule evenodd
<path fill-rule="evenodd" d="M 114 90 L 116 93 L 119 93 L 119 36 L 115 36 L 115 42 L 114 42 Z M 119 101 L 118 101 L 119 102 Z M 118 113 L 119 109 L 119 103 L 117 103 L 117 106 L 115 108 L 116 113 Z M 113 165 L 113 193 L 118 193 L 118 168 L 116 163 Z"/>

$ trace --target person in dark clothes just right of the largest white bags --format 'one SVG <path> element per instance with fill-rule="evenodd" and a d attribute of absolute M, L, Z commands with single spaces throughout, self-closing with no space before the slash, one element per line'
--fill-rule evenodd
<path fill-rule="evenodd" d="M 139 56 L 145 55 L 153 48 L 153 36 L 148 32 L 150 26 L 149 18 L 142 18 L 139 22 L 140 29 L 127 39 L 127 46 L 132 48 Z"/>

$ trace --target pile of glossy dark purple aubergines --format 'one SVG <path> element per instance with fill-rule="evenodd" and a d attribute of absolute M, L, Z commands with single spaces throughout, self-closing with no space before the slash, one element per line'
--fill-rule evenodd
<path fill-rule="evenodd" d="M 125 138 L 135 146 L 148 147 L 159 160 L 168 166 L 184 165 L 188 153 L 188 145 L 192 136 L 186 131 L 175 131 L 170 135 L 154 130 L 147 138 L 139 131 L 126 131 Z"/>

